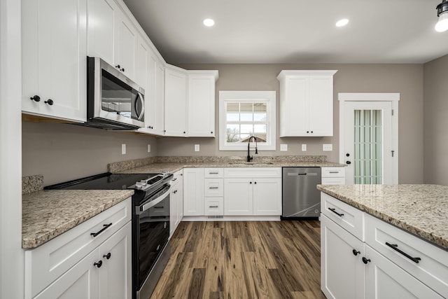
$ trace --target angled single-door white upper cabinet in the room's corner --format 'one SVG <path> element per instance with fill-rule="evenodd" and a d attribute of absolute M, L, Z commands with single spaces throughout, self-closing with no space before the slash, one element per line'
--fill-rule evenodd
<path fill-rule="evenodd" d="M 165 68 L 165 135 L 187 137 L 187 72 Z"/>

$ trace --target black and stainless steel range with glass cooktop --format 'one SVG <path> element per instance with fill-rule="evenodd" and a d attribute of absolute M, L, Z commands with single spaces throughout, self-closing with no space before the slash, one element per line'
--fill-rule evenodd
<path fill-rule="evenodd" d="M 151 297 L 167 265 L 172 174 L 97 174 L 45 189 L 134 189 L 132 195 L 132 298 Z"/>

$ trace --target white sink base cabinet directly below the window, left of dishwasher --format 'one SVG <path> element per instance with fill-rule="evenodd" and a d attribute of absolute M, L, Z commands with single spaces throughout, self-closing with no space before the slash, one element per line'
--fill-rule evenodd
<path fill-rule="evenodd" d="M 281 215 L 281 168 L 224 169 L 224 215 Z"/>

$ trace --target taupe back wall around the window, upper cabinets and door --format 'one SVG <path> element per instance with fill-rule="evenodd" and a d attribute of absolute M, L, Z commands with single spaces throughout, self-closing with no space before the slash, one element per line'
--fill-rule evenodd
<path fill-rule="evenodd" d="M 218 69 L 216 83 L 216 128 L 218 128 L 219 90 L 276 90 L 277 125 L 279 123 L 279 82 L 282 69 L 337 69 L 334 77 L 334 136 L 279 138 L 276 151 L 259 155 L 327 155 L 339 160 L 338 92 L 400 92 L 399 102 L 399 182 L 423 183 L 423 65 L 422 64 L 181 64 L 185 69 Z M 218 131 L 218 130 L 216 130 Z M 200 144 L 200 152 L 194 145 Z M 288 151 L 279 151 L 288 144 Z M 300 145 L 307 144 L 302 152 Z M 332 144 L 333 151 L 322 151 L 322 144 Z M 219 151 L 218 137 L 158 139 L 159 155 L 245 155 L 244 151 Z"/>

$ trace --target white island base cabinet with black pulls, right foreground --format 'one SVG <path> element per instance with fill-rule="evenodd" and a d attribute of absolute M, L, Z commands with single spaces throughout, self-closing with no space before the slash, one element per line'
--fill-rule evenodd
<path fill-rule="evenodd" d="M 321 206 L 327 298 L 448 297 L 446 251 L 324 193 Z"/>

